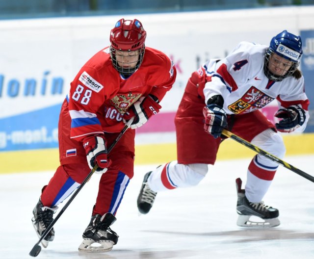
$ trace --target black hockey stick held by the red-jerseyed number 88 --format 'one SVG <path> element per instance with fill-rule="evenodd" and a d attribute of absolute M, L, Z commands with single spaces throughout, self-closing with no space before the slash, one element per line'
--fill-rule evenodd
<path fill-rule="evenodd" d="M 113 143 L 111 144 L 111 146 L 108 148 L 107 153 L 109 154 L 110 151 L 113 149 L 113 147 L 117 144 L 117 142 L 119 141 L 119 139 L 122 137 L 122 135 L 127 131 L 127 129 L 130 128 L 131 124 L 133 122 L 133 118 L 131 118 L 126 126 L 121 130 L 121 132 L 119 133 L 119 135 L 116 137 L 116 139 L 113 141 Z M 52 223 L 50 223 L 50 225 L 48 226 L 48 228 L 45 230 L 45 232 L 41 235 L 41 237 L 39 238 L 38 242 L 34 245 L 33 249 L 29 252 L 29 255 L 31 257 L 36 257 L 39 255 L 40 251 L 41 251 L 41 246 L 39 245 L 39 243 L 45 238 L 45 236 L 52 230 L 53 225 L 55 224 L 55 222 L 59 219 L 59 217 L 62 215 L 62 213 L 64 212 L 64 210 L 66 210 L 66 208 L 70 205 L 70 203 L 74 200 L 74 198 L 78 195 L 79 191 L 83 188 L 83 186 L 85 185 L 86 182 L 88 182 L 90 180 L 90 178 L 92 177 L 92 175 L 95 173 L 95 171 L 97 170 L 98 165 L 96 164 L 93 169 L 90 171 L 90 173 L 87 175 L 87 177 L 85 178 L 84 181 L 82 181 L 82 183 L 79 185 L 79 187 L 77 188 L 77 190 L 73 193 L 73 195 L 70 197 L 69 201 L 62 207 L 61 211 L 58 213 L 58 215 L 56 215 L 55 219 L 52 221 Z"/>

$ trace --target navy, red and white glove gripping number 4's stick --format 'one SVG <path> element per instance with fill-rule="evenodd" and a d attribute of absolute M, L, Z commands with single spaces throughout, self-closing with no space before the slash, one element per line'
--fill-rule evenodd
<path fill-rule="evenodd" d="M 227 127 L 227 114 L 224 109 L 217 104 L 209 104 L 203 108 L 203 115 L 205 131 L 214 138 L 220 137 L 222 130 Z"/>

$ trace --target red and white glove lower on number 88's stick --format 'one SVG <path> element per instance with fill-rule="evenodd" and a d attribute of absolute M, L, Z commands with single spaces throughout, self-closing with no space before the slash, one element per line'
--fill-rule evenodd
<path fill-rule="evenodd" d="M 84 138 L 83 147 L 86 152 L 86 158 L 90 169 L 98 164 L 98 168 L 95 172 L 98 174 L 105 173 L 111 164 L 111 160 L 107 159 L 107 148 L 104 135 L 88 136 Z"/>

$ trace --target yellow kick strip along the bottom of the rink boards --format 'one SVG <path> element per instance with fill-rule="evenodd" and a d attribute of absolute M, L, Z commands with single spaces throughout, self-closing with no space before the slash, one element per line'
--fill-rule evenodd
<path fill-rule="evenodd" d="M 314 133 L 284 135 L 287 155 L 314 154 Z M 247 158 L 255 153 L 229 139 L 220 146 L 217 160 Z M 138 144 L 135 165 L 159 164 L 176 160 L 176 144 Z M 284 158 L 285 160 L 285 158 Z M 287 160 L 288 162 L 288 160 Z M 0 174 L 55 170 L 59 165 L 58 149 L 14 151 L 0 154 Z"/>

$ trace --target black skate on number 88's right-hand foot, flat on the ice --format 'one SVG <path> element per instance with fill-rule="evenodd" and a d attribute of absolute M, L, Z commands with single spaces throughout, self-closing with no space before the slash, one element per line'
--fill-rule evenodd
<path fill-rule="evenodd" d="M 100 214 L 92 216 L 89 225 L 83 233 L 83 241 L 79 245 L 78 251 L 94 253 L 110 251 L 113 245 L 118 242 L 119 237 L 109 227 L 116 220 L 116 217 L 111 213 L 105 213 L 103 216 Z M 98 245 L 92 246 L 94 243 L 98 243 Z"/>

